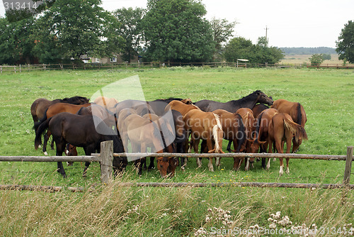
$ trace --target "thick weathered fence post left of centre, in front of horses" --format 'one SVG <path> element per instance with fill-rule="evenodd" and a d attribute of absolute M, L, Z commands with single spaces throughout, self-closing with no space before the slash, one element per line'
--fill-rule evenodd
<path fill-rule="evenodd" d="M 108 184 L 112 180 L 113 140 L 101 143 L 101 182 Z"/>

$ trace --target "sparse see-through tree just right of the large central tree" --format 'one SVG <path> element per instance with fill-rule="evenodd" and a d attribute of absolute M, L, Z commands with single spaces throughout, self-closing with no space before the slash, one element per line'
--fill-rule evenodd
<path fill-rule="evenodd" d="M 226 19 L 212 18 L 210 21 L 212 27 L 212 34 L 215 41 L 215 51 L 220 54 L 222 51 L 222 43 L 227 43 L 227 40 L 234 33 L 236 21 L 229 22 Z"/>

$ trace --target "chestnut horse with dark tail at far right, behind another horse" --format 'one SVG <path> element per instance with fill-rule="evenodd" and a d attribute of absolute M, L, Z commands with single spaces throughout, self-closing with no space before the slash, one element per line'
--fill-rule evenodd
<path fill-rule="evenodd" d="M 307 116 L 304 110 L 304 107 L 297 102 L 290 102 L 285 99 L 277 99 L 274 101 L 271 108 L 278 109 L 280 113 L 289 114 L 295 123 L 301 125 L 303 128 L 305 127 L 305 123 L 307 122 Z M 295 138 L 292 140 L 292 153 L 297 152 L 299 146 L 302 143 L 302 139 L 296 140 Z"/>

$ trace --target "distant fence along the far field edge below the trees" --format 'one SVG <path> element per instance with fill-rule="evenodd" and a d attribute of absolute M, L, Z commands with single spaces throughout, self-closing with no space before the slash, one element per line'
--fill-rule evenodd
<path fill-rule="evenodd" d="M 156 68 L 156 67 L 316 67 L 354 69 L 354 65 L 307 65 L 307 64 L 252 64 L 248 62 L 124 62 L 124 63 L 81 63 L 81 64 L 38 64 L 38 65 L 0 65 L 0 74 L 3 72 L 30 72 L 35 70 L 101 70 L 101 69 L 127 69 L 127 68 Z"/>

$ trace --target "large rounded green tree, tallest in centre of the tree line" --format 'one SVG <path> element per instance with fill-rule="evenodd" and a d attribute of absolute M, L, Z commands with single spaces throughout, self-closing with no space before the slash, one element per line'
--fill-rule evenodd
<path fill-rule="evenodd" d="M 215 42 L 207 11 L 195 0 L 149 0 L 143 18 L 147 60 L 210 61 Z"/>

